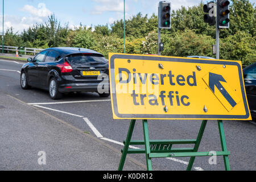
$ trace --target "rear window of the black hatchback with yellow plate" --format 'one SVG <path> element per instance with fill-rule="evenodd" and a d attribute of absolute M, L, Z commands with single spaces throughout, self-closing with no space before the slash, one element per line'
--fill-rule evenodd
<path fill-rule="evenodd" d="M 69 55 L 67 60 L 72 65 L 94 65 L 107 63 L 104 56 L 95 53 Z"/>

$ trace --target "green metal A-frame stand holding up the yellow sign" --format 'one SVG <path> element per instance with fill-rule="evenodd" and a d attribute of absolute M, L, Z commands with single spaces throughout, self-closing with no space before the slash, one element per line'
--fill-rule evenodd
<path fill-rule="evenodd" d="M 148 135 L 147 119 L 142 120 L 144 140 L 131 140 L 135 122 L 136 122 L 135 119 L 131 119 L 128 134 L 124 142 L 125 146 L 123 147 L 123 150 L 122 150 L 122 156 L 119 163 L 118 171 L 122 171 L 127 154 L 146 153 L 146 162 L 147 162 L 148 171 L 152 170 L 151 158 L 191 157 L 187 167 L 187 171 L 190 171 L 192 169 L 196 156 L 212 156 L 213 155 L 211 152 L 198 152 L 199 145 L 205 130 L 205 126 L 207 124 L 207 120 L 203 120 L 203 122 L 201 123 L 199 134 L 197 135 L 197 139 L 180 139 L 180 140 L 150 140 Z M 224 158 L 225 169 L 226 171 L 230 171 L 229 158 L 228 158 L 228 155 L 230 155 L 230 152 L 227 151 L 227 148 L 226 148 L 226 139 L 224 134 L 223 123 L 221 120 L 218 120 L 218 130 L 220 131 L 220 141 L 221 141 L 222 151 L 217 151 L 214 155 L 222 155 Z M 150 144 L 156 144 L 156 145 L 168 144 L 171 147 L 168 148 L 168 151 L 155 150 L 156 148 L 154 148 L 154 150 L 151 150 Z M 195 144 L 195 146 L 192 148 L 172 148 L 172 144 Z M 129 148 L 129 145 L 144 145 L 145 148 L 131 149 Z"/>

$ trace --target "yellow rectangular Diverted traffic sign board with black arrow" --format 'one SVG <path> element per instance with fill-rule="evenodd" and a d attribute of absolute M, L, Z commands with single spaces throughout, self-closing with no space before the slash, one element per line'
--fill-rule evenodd
<path fill-rule="evenodd" d="M 114 119 L 250 120 L 241 61 L 109 53 Z"/>

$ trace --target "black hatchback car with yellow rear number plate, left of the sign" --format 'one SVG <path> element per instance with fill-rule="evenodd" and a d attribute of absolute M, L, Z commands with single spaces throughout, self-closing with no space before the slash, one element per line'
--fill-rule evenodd
<path fill-rule="evenodd" d="M 48 48 L 34 59 L 28 58 L 20 72 L 20 85 L 22 89 L 34 86 L 48 90 L 55 100 L 63 93 L 98 92 L 104 80 L 104 92 L 98 94 L 108 97 L 108 75 L 108 60 L 101 53 L 84 48 Z"/>

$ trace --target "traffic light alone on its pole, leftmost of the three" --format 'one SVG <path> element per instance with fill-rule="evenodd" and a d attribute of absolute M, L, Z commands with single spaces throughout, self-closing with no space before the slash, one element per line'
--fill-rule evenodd
<path fill-rule="evenodd" d="M 158 26 L 159 28 L 171 28 L 171 2 L 159 2 Z"/>

